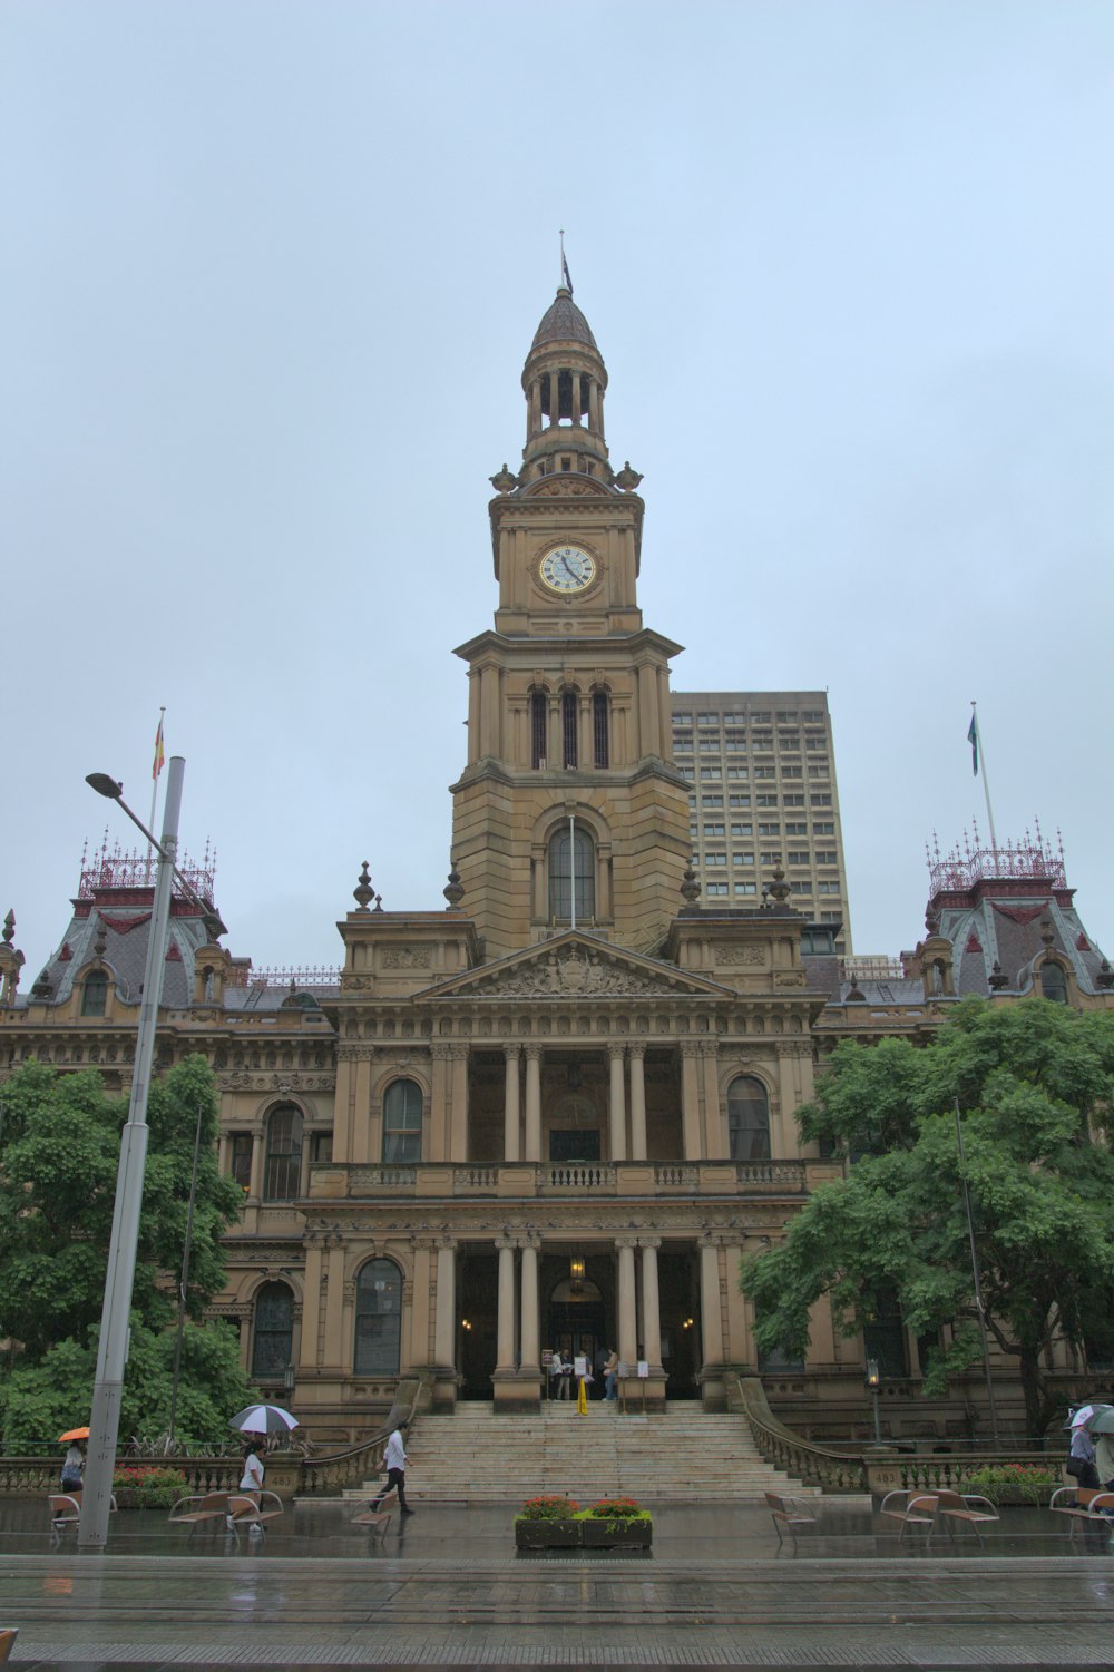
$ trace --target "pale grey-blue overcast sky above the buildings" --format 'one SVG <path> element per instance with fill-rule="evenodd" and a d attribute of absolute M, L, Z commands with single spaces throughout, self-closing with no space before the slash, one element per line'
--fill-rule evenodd
<path fill-rule="evenodd" d="M 1109 0 L 5 0 L 0 913 L 25 986 L 166 704 L 226 943 L 443 905 L 450 652 L 559 279 L 677 689 L 823 689 L 855 950 L 1034 816 L 1111 903 Z M 166 779 L 164 779 L 166 781 Z"/>

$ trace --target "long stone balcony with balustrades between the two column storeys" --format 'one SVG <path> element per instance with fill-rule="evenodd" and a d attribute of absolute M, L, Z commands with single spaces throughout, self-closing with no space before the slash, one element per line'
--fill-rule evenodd
<path fill-rule="evenodd" d="M 626 1160 L 423 1162 L 413 1167 L 338 1165 L 309 1172 L 311 1200 L 381 1197 L 803 1197 L 838 1177 L 831 1162 Z"/>

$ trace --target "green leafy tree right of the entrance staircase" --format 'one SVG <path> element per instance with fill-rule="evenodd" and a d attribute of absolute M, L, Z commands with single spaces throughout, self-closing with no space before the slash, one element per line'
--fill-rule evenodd
<path fill-rule="evenodd" d="M 808 1199 L 778 1247 L 744 1261 L 759 1348 L 803 1354 L 821 1296 L 848 1336 L 897 1296 L 917 1334 L 950 1326 L 925 1379 L 942 1393 L 980 1356 L 967 1179 L 987 1328 L 1017 1359 L 1040 1433 L 1054 1409 L 1047 1348 L 1057 1336 L 1081 1346 L 1114 1294 L 1112 1112 L 1107 1012 L 965 1000 L 925 1047 L 841 1042 L 798 1120 L 848 1172 Z"/>

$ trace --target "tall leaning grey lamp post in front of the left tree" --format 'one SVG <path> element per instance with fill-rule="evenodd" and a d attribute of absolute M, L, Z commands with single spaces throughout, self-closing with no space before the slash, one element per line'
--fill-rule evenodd
<path fill-rule="evenodd" d="M 147 1092 L 151 1088 L 151 1062 L 154 1057 L 156 1027 L 159 1022 L 159 995 L 166 965 L 166 935 L 171 921 L 171 879 L 177 853 L 177 813 L 182 801 L 182 774 L 186 761 L 171 756 L 162 806 L 162 841 L 135 818 L 117 784 L 107 772 L 90 772 L 87 782 L 110 801 L 119 801 L 132 824 L 152 843 L 159 854 L 156 871 L 151 936 L 147 940 L 147 965 L 144 991 L 139 1007 L 139 1032 L 135 1035 L 135 1068 L 127 1124 L 120 1139 L 120 1167 L 115 1175 L 115 1209 L 112 1212 L 112 1242 L 109 1244 L 109 1269 L 104 1279 L 104 1311 L 100 1314 L 100 1348 L 97 1351 L 97 1381 L 94 1384 L 92 1413 L 89 1418 L 89 1456 L 82 1491 L 82 1518 L 77 1530 L 79 1545 L 102 1547 L 109 1540 L 109 1510 L 112 1503 L 112 1471 L 115 1468 L 115 1443 L 120 1431 L 120 1388 L 127 1363 L 129 1318 L 132 1309 L 132 1284 L 135 1281 L 135 1251 L 139 1246 L 139 1209 L 144 1197 L 144 1167 L 147 1164 Z"/>

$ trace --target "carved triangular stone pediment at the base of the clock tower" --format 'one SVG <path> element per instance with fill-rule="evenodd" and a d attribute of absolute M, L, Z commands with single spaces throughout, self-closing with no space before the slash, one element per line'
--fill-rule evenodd
<path fill-rule="evenodd" d="M 529 998 L 564 1003 L 574 998 L 709 997 L 738 998 L 738 993 L 677 970 L 672 963 L 644 958 L 575 930 L 415 993 L 415 998 Z"/>

